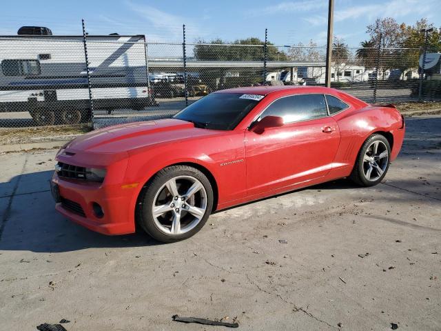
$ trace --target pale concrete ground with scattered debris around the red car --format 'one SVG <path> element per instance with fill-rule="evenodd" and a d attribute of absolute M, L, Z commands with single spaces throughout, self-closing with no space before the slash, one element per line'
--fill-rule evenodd
<path fill-rule="evenodd" d="M 218 212 L 192 239 L 105 237 L 54 211 L 55 150 L 0 158 L 0 325 L 75 330 L 441 329 L 441 117 L 407 119 L 384 183 Z M 287 243 L 280 243 L 285 240 Z"/>

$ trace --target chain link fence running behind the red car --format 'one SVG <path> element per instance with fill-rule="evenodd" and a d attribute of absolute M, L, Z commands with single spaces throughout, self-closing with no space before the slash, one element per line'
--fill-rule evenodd
<path fill-rule="evenodd" d="M 334 47 L 331 87 L 369 103 L 441 99 L 440 57 L 427 50 L 423 74 L 422 52 Z M 170 117 L 225 88 L 325 85 L 325 57 L 325 47 L 148 43 L 143 35 L 0 37 L 0 130 L 100 128 Z"/>

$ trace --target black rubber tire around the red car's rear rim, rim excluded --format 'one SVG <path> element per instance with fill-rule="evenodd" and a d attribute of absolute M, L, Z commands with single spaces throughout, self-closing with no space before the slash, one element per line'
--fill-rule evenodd
<path fill-rule="evenodd" d="M 374 180 L 369 180 L 367 179 L 364 168 L 366 166 L 366 163 L 364 161 L 365 154 L 367 153 L 368 148 L 376 141 L 380 141 L 387 148 L 387 163 L 384 163 L 384 170 L 382 170 L 382 174 L 377 172 L 378 178 L 375 177 Z M 386 137 L 384 137 L 382 134 L 372 134 L 361 146 L 360 151 L 358 152 L 356 163 L 353 166 L 353 170 L 351 172 L 351 175 L 349 176 L 349 179 L 351 179 L 351 181 L 353 181 L 354 183 L 365 187 L 377 185 L 378 183 L 380 183 L 380 181 L 382 181 L 384 176 L 386 176 L 387 170 L 389 170 L 390 159 L 391 146 L 389 145 L 389 141 L 387 141 Z"/>

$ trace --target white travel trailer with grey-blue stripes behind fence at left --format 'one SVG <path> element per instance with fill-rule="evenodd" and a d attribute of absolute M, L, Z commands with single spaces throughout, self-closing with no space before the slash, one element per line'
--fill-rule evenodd
<path fill-rule="evenodd" d="M 88 36 L 94 110 L 154 106 L 145 37 Z M 0 112 L 28 111 L 40 124 L 88 121 L 83 36 L 0 36 Z"/>

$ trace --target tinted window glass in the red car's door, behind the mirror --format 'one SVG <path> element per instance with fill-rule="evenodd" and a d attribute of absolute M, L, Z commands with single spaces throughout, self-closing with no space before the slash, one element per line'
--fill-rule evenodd
<path fill-rule="evenodd" d="M 263 112 L 265 116 L 283 117 L 285 123 L 327 116 L 323 94 L 299 94 L 277 99 Z"/>

